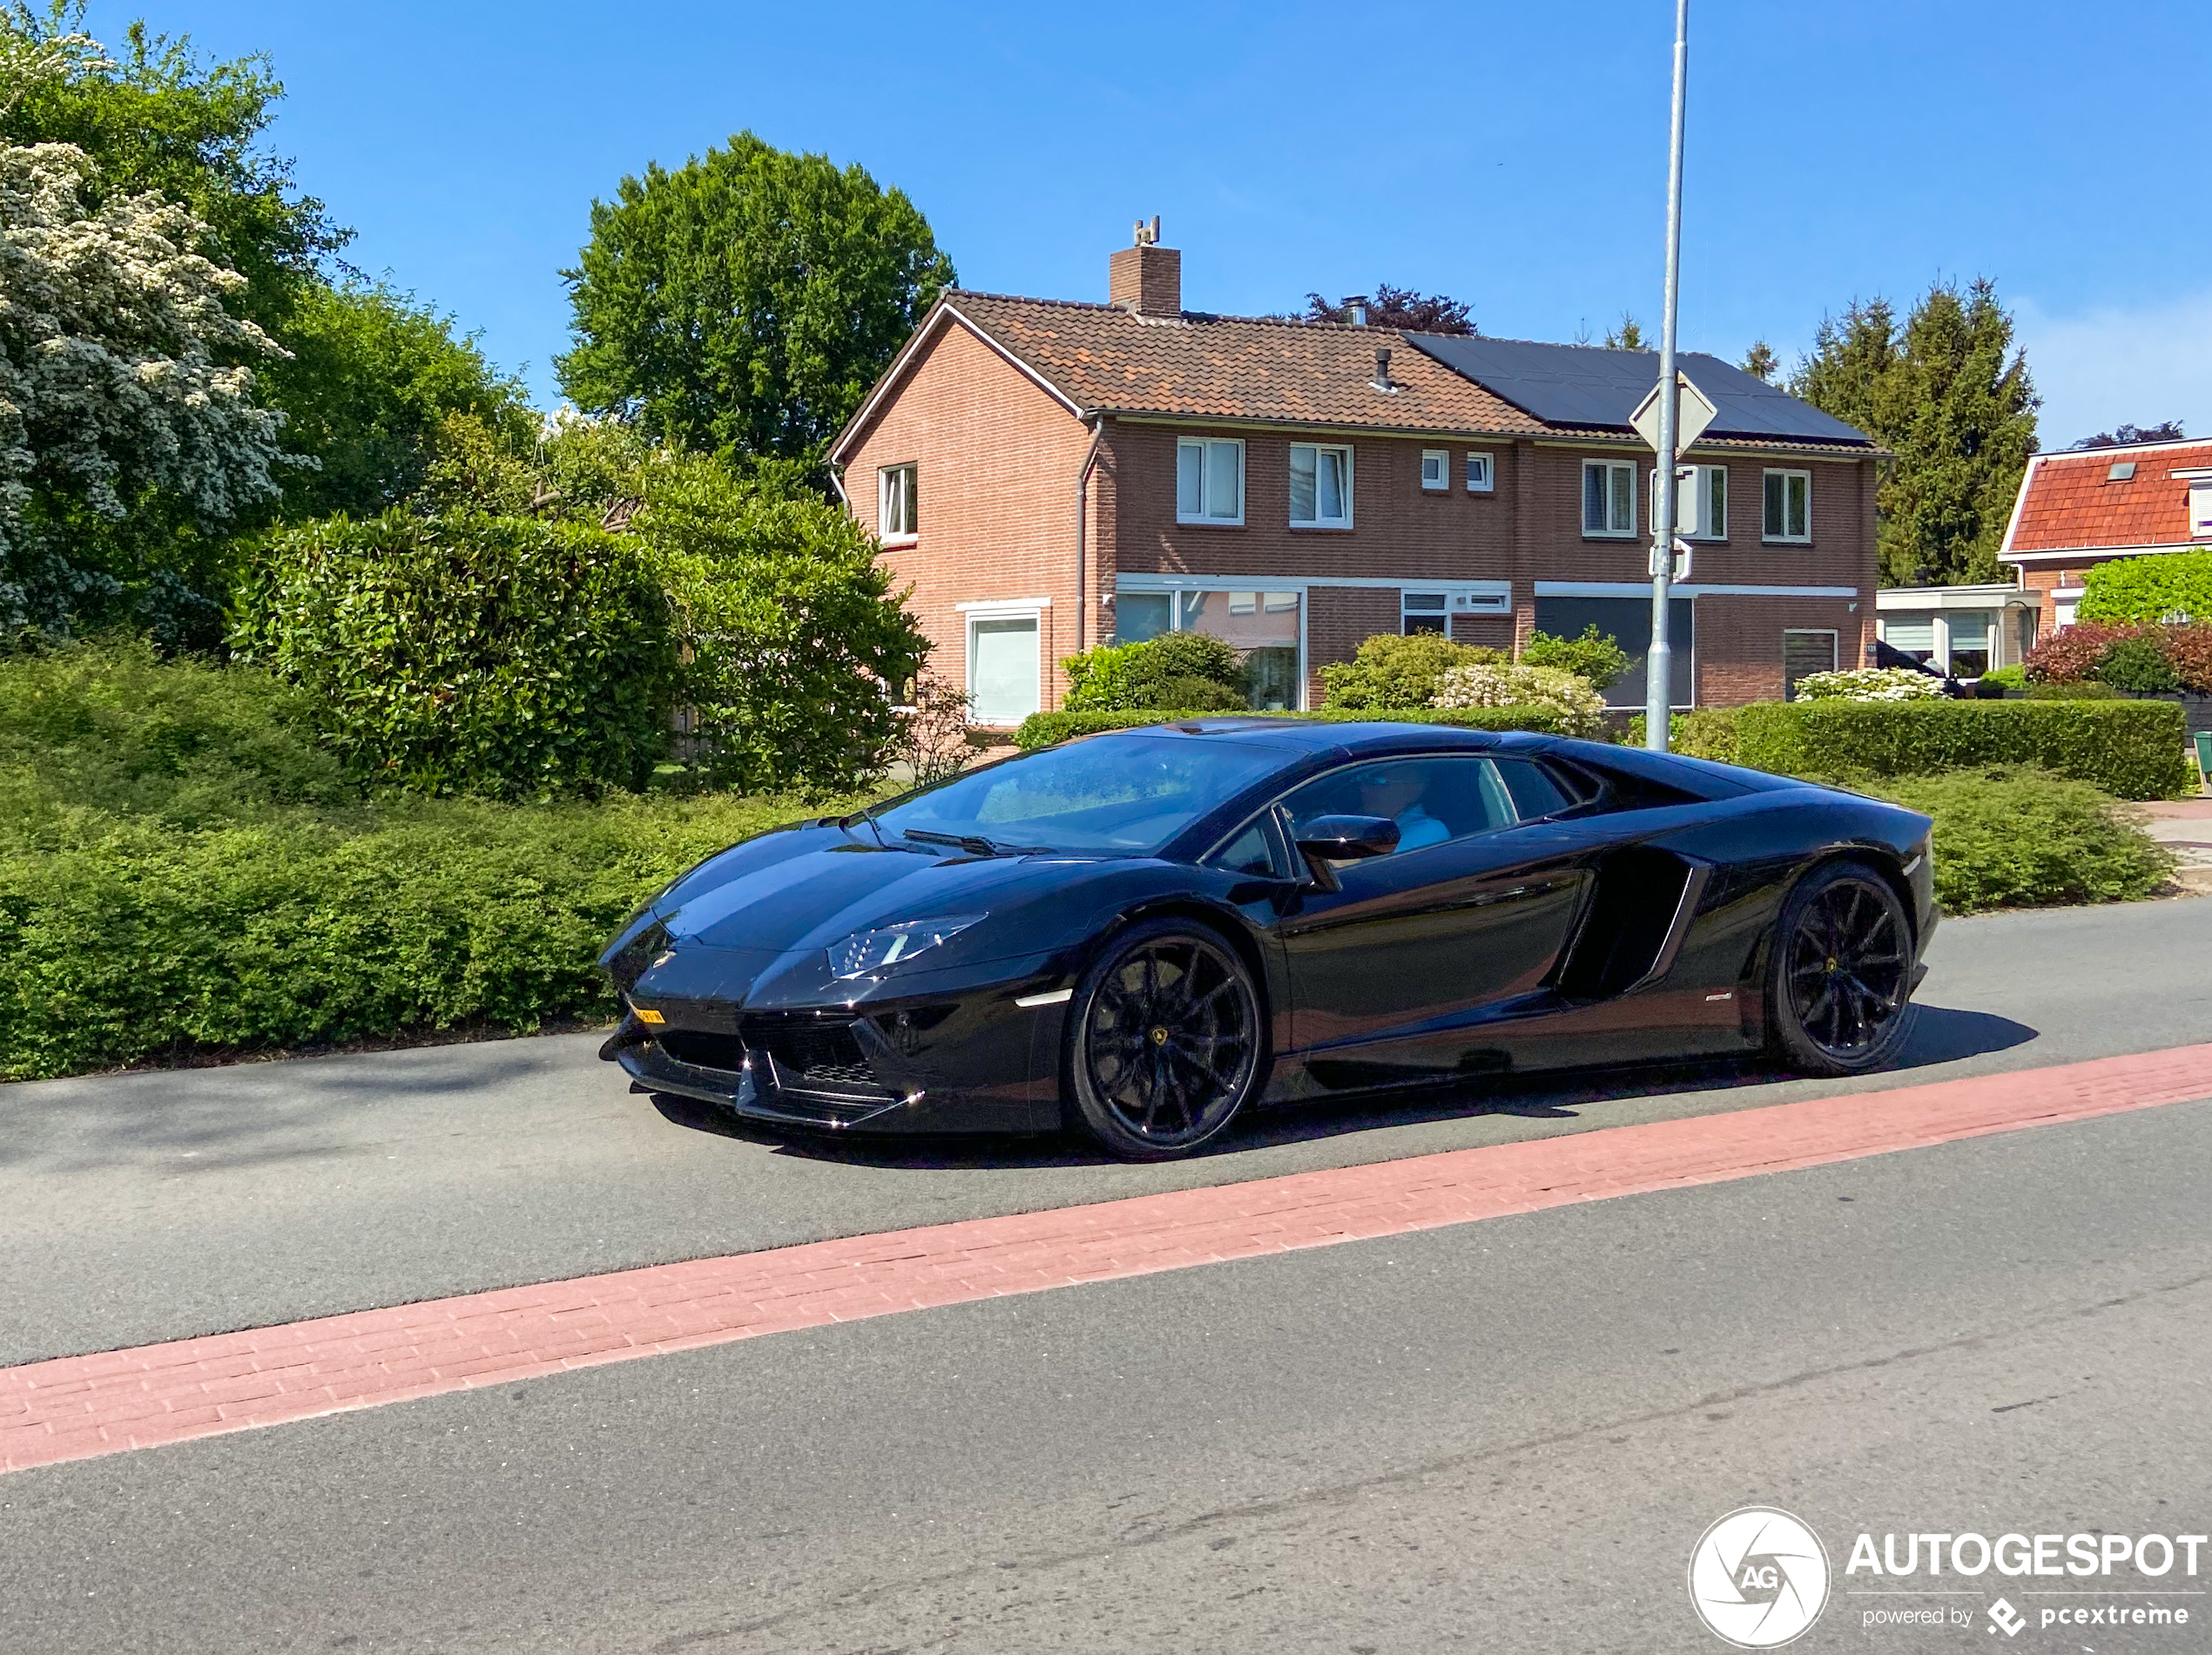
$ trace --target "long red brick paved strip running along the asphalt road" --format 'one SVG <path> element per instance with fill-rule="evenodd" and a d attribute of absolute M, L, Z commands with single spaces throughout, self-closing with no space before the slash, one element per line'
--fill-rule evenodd
<path fill-rule="evenodd" d="M 1082 1281 L 2212 1097 L 2212 1047 L 471 1292 L 0 1370 L 0 1471 Z"/>

